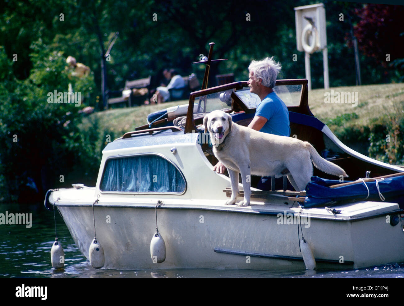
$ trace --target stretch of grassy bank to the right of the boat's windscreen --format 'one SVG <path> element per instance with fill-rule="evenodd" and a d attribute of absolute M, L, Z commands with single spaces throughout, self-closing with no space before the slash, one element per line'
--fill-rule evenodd
<path fill-rule="evenodd" d="M 324 94 L 331 89 L 357 92 L 357 106 L 325 103 Z M 309 107 L 352 149 L 387 163 L 404 163 L 404 84 L 316 89 L 309 92 Z"/>

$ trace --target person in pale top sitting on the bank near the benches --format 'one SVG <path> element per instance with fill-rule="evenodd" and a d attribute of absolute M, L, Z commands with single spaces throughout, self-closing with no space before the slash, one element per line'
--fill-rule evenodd
<path fill-rule="evenodd" d="M 156 88 L 156 93 L 151 98 L 151 104 L 157 101 L 157 104 L 166 102 L 171 99 L 179 99 L 184 93 L 184 79 L 177 73 L 175 69 L 164 69 L 163 75 L 167 80 L 170 80 L 167 86 L 159 86 Z M 171 91 L 168 91 L 171 89 Z"/>

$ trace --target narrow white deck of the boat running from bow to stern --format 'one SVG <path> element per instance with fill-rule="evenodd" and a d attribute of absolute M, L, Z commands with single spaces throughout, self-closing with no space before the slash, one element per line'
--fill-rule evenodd
<path fill-rule="evenodd" d="M 95 187 L 78 189 L 75 190 L 75 192 L 71 191 L 72 189 L 59 189 L 59 191 L 54 191 L 49 197 L 50 203 L 64 207 L 92 207 L 94 201 L 97 199 L 97 195 L 95 195 Z M 376 218 L 390 214 L 404 213 L 403 210 L 400 210 L 397 203 L 379 201 L 358 201 L 354 203 L 333 205 L 332 207 L 302 208 L 292 197 L 279 194 L 282 192 L 283 191 L 278 191 L 278 194 L 276 194 L 269 191 L 253 191 L 254 196 L 252 197 L 250 206 L 246 207 L 225 205 L 223 199 L 190 200 L 181 199 L 181 197 L 175 199 L 173 196 L 163 198 L 162 195 L 150 197 L 150 195 L 122 195 L 119 193 L 108 193 L 101 194 L 98 203 L 95 203 L 94 207 L 155 209 L 157 202 L 162 201 L 163 205 L 158 208 L 159 210 L 209 210 L 263 215 L 299 214 L 301 217 L 306 218 L 310 217 L 314 219 L 335 221 L 355 221 L 364 218 Z M 287 193 L 292 192 L 289 191 Z M 57 201 L 57 198 L 60 199 Z"/>

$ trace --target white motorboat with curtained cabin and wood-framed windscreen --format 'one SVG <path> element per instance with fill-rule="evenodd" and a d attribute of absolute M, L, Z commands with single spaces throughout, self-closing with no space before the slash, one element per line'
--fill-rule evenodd
<path fill-rule="evenodd" d="M 186 117 L 170 110 L 151 114 L 149 124 L 109 143 L 95 187 L 48 191 L 45 205 L 59 210 L 82 254 L 89 258 L 96 228 L 102 266 L 111 269 L 310 268 L 304 252 L 317 267 L 404 262 L 402 168 L 343 145 L 311 114 L 307 80 L 276 82 L 290 111 L 291 135 L 312 143 L 353 181 L 364 180 L 339 184 L 315 170 L 325 179 L 314 177 L 306 192 L 252 188 L 250 206 L 225 205 L 230 180 L 212 170 L 217 160 L 202 118 L 225 109 L 234 122 L 248 125 L 256 101 L 246 87 L 234 82 L 192 92 Z M 366 178 L 366 171 L 384 180 Z M 162 262 L 151 251 L 156 219 L 164 243 L 152 248 L 165 253 Z"/>

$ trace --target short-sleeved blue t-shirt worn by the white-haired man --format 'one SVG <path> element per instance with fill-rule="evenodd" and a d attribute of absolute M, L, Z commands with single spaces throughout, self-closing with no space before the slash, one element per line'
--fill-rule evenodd
<path fill-rule="evenodd" d="M 259 130 L 260 132 L 290 136 L 288 108 L 275 92 L 268 94 L 259 103 L 255 110 L 255 115 L 268 119 L 261 130 Z"/>

